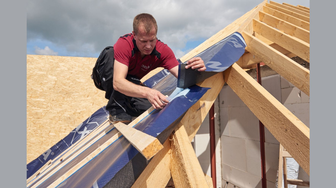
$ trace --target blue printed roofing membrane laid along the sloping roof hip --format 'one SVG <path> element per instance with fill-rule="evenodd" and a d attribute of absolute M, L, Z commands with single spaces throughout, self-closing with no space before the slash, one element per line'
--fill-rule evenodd
<path fill-rule="evenodd" d="M 232 35 L 224 38 L 210 48 L 195 57 L 201 57 L 207 67 L 206 72 L 218 73 L 226 70 L 233 63 L 243 55 L 246 43 L 240 33 L 235 32 Z M 181 62 L 182 63 L 182 62 Z M 184 62 L 185 63 L 185 62 Z M 201 72 L 202 74 L 202 72 Z M 180 78 L 181 79 L 181 78 Z M 186 78 L 183 78 L 186 79 Z M 196 78 L 187 78 L 195 79 Z M 183 89 L 177 88 L 178 79 L 169 74 L 167 70 L 163 70 L 147 81 L 144 84 L 150 88 L 157 89 L 164 95 L 171 95 L 173 91 L 182 91 Z M 143 118 L 140 122 L 134 125 L 134 128 L 152 135 L 159 137 L 167 127 L 176 124 L 176 120 L 183 117 L 184 113 L 194 105 L 210 88 L 202 88 L 192 85 L 184 89 L 176 98 L 173 98 L 162 110 L 153 110 L 148 116 Z M 176 93 L 173 93 L 175 95 Z M 178 92 L 177 92 L 178 93 Z M 98 125 L 107 120 L 109 112 L 105 107 L 98 109 L 83 123 L 78 125 L 73 131 L 69 133 L 64 139 L 60 140 L 56 145 L 51 147 L 44 154 L 27 165 L 27 178 L 37 172 L 47 161 L 60 158 L 60 154 L 67 150 L 78 140 L 83 139 L 89 132 L 94 130 Z M 75 166 L 78 162 L 85 159 L 94 150 L 104 144 L 112 135 L 118 132 L 115 128 L 110 130 L 102 136 L 97 142 L 88 147 L 85 151 L 79 154 L 74 160 L 69 162 L 63 159 L 67 164 L 60 170 L 55 172 L 43 182 L 35 180 L 42 177 L 36 177 L 35 181 L 29 187 L 35 185 L 37 187 L 48 187 L 51 183 L 57 180 L 65 172 Z M 169 135 L 169 134 L 168 134 Z M 165 135 L 161 138 L 160 142 L 167 138 Z M 74 152 L 74 151 L 72 151 Z M 100 188 L 109 183 L 109 181 L 116 175 L 118 171 L 125 167 L 134 156 L 139 152 L 123 137 L 120 136 L 106 149 L 100 151 L 99 154 L 94 156 L 90 161 L 83 164 L 83 166 L 73 172 L 73 174 L 60 182 L 56 187 L 93 187 Z M 137 177 L 134 177 L 135 179 Z"/>

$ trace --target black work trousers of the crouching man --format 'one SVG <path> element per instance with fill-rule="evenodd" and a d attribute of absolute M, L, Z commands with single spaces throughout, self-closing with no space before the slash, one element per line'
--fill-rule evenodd
<path fill-rule="evenodd" d="M 99 55 L 96 64 L 92 70 L 91 78 L 94 85 L 105 91 L 105 98 L 109 100 L 106 110 L 111 115 L 122 112 L 137 117 L 149 109 L 152 104 L 146 98 L 126 96 L 113 89 L 113 65 L 114 51 L 112 46 L 106 47 Z M 145 87 L 140 80 L 132 75 L 127 75 L 126 79 L 134 84 Z"/>

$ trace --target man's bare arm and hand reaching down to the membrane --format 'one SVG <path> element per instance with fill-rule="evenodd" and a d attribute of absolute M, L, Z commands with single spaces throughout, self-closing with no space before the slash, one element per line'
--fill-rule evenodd
<path fill-rule="evenodd" d="M 160 91 L 133 84 L 126 80 L 128 67 L 114 61 L 113 88 L 130 97 L 147 98 L 155 109 L 162 109 L 169 101 Z"/>

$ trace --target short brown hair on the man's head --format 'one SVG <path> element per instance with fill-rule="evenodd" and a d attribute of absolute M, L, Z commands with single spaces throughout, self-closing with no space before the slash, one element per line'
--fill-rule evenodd
<path fill-rule="evenodd" d="M 138 29 L 141 25 L 143 26 L 147 34 L 152 31 L 153 27 L 155 28 L 155 33 L 158 32 L 158 25 L 156 24 L 155 18 L 151 14 L 142 13 L 134 17 L 133 31 L 135 34 L 138 33 Z"/>

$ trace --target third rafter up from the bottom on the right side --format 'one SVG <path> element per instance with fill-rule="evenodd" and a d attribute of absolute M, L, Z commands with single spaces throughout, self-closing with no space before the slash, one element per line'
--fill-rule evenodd
<path fill-rule="evenodd" d="M 259 20 L 253 19 L 253 29 L 261 36 L 277 43 L 284 49 L 309 62 L 309 44 L 296 37 L 281 32 Z"/>

